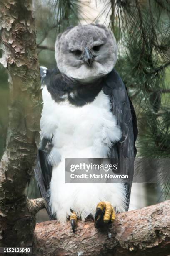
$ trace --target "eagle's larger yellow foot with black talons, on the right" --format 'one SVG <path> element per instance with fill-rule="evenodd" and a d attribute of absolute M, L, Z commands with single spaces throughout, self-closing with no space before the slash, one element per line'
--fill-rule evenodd
<path fill-rule="evenodd" d="M 102 201 L 97 204 L 95 214 L 95 228 L 101 228 L 106 223 L 113 222 L 115 218 L 115 210 L 110 202 Z"/>

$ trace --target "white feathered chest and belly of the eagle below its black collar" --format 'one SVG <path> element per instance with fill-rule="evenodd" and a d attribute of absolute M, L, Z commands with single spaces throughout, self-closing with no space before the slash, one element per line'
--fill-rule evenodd
<path fill-rule="evenodd" d="M 41 133 L 46 138 L 54 135 L 52 143 L 61 155 L 61 162 L 53 166 L 50 184 L 50 206 L 57 220 L 65 222 L 70 209 L 84 220 L 89 214 L 95 215 L 100 201 L 109 201 L 116 210 L 124 211 L 123 184 L 65 183 L 65 158 L 107 158 L 112 143 L 120 140 L 109 97 L 100 92 L 92 103 L 75 107 L 68 102 L 55 103 L 46 87 L 42 95 Z"/>

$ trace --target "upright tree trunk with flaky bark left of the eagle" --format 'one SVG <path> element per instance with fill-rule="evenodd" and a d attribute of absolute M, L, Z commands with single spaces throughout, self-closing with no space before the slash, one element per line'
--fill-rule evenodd
<path fill-rule="evenodd" d="M 32 0 L 0 0 L 0 33 L 9 71 L 7 147 L 0 164 L 0 246 L 31 246 L 33 204 L 25 187 L 35 164 L 41 112 Z"/>

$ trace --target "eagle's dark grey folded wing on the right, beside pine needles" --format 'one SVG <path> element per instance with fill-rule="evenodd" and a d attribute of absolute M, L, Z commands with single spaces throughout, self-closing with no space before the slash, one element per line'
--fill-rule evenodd
<path fill-rule="evenodd" d="M 122 138 L 120 142 L 112 146 L 109 157 L 111 162 L 113 161 L 112 164 L 115 163 L 115 159 L 118 159 L 119 171 L 129 177 L 128 183 L 126 183 L 128 210 L 133 182 L 134 159 L 137 153 L 135 148 L 135 141 L 138 136 L 137 118 L 126 87 L 115 69 L 105 79 L 103 91 L 110 96 L 112 112 L 117 117 L 117 124 L 122 130 Z"/>

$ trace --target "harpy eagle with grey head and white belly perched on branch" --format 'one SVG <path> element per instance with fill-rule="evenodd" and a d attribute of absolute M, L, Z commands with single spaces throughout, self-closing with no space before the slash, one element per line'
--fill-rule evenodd
<path fill-rule="evenodd" d="M 114 66 L 115 37 L 103 25 L 69 27 L 57 36 L 57 68 L 40 68 L 43 110 L 37 179 L 50 219 L 95 218 L 95 227 L 128 210 L 133 180 L 135 111 Z M 65 158 L 131 159 L 122 165 L 129 182 L 66 184 Z M 121 160 L 122 161 L 122 160 Z"/>

